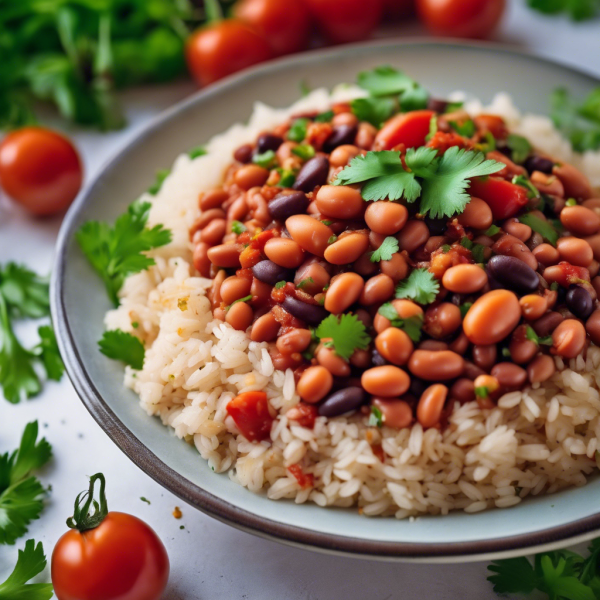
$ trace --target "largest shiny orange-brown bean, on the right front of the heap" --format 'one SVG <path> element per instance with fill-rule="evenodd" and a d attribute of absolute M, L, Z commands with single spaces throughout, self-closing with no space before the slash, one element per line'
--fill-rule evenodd
<path fill-rule="evenodd" d="M 487 346 L 502 341 L 520 319 L 517 296 L 508 290 L 492 290 L 471 306 L 463 320 L 463 329 L 473 344 Z"/>

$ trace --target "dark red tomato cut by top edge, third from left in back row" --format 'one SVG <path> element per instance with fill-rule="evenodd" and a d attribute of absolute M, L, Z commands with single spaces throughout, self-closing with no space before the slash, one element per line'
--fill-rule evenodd
<path fill-rule="evenodd" d="M 369 37 L 383 13 L 383 0 L 305 0 L 321 31 L 337 44 Z"/>

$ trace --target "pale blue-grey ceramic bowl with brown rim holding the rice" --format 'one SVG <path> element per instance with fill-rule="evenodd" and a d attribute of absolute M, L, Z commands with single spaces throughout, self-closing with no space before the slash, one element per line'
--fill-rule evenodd
<path fill-rule="evenodd" d="M 412 522 L 268 500 L 212 473 L 195 448 L 140 410 L 136 395 L 123 387 L 122 365 L 98 351 L 110 303 L 74 240 L 81 223 L 113 220 L 157 169 L 245 121 L 254 101 L 284 107 L 298 98 L 300 82 L 332 87 L 382 64 L 405 70 L 436 97 L 461 89 L 489 101 L 505 90 L 521 110 L 536 113 L 547 111 L 548 95 L 557 86 L 582 96 L 599 85 L 583 73 L 495 46 L 385 41 L 278 60 L 200 91 L 152 121 L 69 210 L 52 282 L 52 313 L 69 376 L 92 416 L 140 468 L 189 504 L 258 535 L 324 551 L 427 561 L 506 556 L 592 537 L 600 529 L 600 479 L 510 509 Z"/>

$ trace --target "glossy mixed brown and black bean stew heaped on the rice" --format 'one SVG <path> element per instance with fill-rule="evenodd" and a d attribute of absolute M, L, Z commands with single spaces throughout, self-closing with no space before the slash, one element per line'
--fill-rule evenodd
<path fill-rule="evenodd" d="M 347 104 L 299 115 L 238 148 L 222 187 L 199 199 L 190 237 L 214 316 L 293 370 L 302 402 L 288 417 L 304 426 L 362 411 L 380 426 L 441 427 L 456 401 L 490 408 L 550 378 L 553 356 L 600 344 L 600 197 L 528 144 L 517 157 L 501 118 L 435 108 L 380 129 Z M 336 182 L 367 152 L 404 161 L 421 146 L 483 152 L 501 169 L 471 178 L 464 210 L 444 218 Z M 352 325 L 345 352 L 319 334 L 331 315 Z"/>

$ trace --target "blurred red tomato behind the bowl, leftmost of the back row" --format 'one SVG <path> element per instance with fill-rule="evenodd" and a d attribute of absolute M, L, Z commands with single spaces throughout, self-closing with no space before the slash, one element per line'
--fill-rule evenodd
<path fill-rule="evenodd" d="M 193 33 L 185 52 L 188 69 L 200 85 L 269 60 L 272 55 L 262 35 L 250 25 L 233 19 Z"/>

